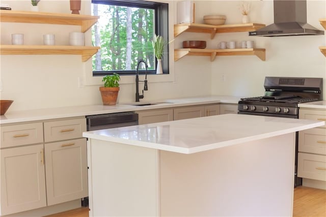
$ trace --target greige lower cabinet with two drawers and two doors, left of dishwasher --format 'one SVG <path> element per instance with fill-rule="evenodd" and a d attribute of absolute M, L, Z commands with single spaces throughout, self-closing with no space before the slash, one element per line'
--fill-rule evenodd
<path fill-rule="evenodd" d="M 85 117 L 1 126 L 1 216 L 88 196 L 84 131 Z"/>

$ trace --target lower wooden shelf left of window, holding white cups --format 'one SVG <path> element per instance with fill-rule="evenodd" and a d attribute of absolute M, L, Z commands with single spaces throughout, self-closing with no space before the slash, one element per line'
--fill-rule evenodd
<path fill-rule="evenodd" d="M 50 46 L 50 45 L 0 45 L 1 55 L 32 55 L 32 54 L 77 54 L 82 55 L 85 62 L 100 47 L 93 46 Z"/>

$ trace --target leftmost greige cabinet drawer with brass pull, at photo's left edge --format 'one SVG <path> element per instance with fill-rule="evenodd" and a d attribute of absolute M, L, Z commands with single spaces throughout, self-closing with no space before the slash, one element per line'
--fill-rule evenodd
<path fill-rule="evenodd" d="M 1 148 L 41 142 L 43 142 L 42 122 L 1 127 Z"/>

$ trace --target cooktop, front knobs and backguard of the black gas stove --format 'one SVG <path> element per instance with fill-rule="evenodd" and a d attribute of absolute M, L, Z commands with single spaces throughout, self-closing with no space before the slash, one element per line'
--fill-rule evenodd
<path fill-rule="evenodd" d="M 264 87 L 264 96 L 239 101 L 239 114 L 298 118 L 298 104 L 322 100 L 322 78 L 266 77 Z"/>

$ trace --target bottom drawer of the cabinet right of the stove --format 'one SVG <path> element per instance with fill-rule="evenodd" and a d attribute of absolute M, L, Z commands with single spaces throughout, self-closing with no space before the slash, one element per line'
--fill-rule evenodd
<path fill-rule="evenodd" d="M 326 156 L 298 153 L 297 176 L 326 181 Z"/>

